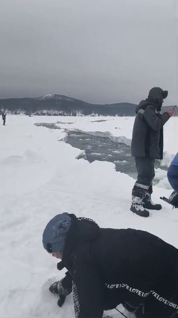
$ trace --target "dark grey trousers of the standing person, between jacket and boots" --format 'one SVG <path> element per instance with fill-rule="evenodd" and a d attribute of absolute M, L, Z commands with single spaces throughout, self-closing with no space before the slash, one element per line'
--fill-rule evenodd
<path fill-rule="evenodd" d="M 155 176 L 154 159 L 134 157 L 136 170 L 138 172 L 135 186 L 148 190 Z"/>

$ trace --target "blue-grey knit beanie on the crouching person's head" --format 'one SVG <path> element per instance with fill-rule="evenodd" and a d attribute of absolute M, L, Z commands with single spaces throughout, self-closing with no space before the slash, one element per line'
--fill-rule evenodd
<path fill-rule="evenodd" d="M 48 222 L 43 233 L 43 246 L 49 253 L 63 251 L 70 226 L 68 213 L 58 214 Z"/>

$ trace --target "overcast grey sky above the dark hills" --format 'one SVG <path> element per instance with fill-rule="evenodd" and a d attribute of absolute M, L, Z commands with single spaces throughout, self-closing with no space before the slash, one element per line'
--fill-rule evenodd
<path fill-rule="evenodd" d="M 0 0 L 0 98 L 178 103 L 177 0 Z"/>

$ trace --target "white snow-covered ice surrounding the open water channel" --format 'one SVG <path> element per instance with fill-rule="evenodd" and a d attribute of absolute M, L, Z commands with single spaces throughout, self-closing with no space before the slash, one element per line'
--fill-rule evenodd
<path fill-rule="evenodd" d="M 33 125 L 57 121 L 55 130 Z M 101 227 L 145 230 L 178 247 L 178 210 L 159 199 L 171 193 L 162 170 L 153 200 L 163 209 L 140 218 L 130 212 L 134 179 L 111 162 L 77 160 L 81 151 L 64 142 L 67 128 L 129 143 L 133 123 L 133 117 L 9 115 L 0 125 L 0 318 L 74 317 L 72 296 L 59 308 L 46 285 L 65 272 L 56 270 L 42 245 L 45 225 L 58 213 L 86 216 Z M 164 140 L 163 164 L 169 165 L 178 151 L 178 118 L 166 123 Z"/>

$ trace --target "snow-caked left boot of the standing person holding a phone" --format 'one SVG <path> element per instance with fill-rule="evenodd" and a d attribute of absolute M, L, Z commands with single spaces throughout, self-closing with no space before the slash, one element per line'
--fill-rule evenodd
<path fill-rule="evenodd" d="M 149 217 L 149 212 L 143 207 L 143 199 L 145 195 L 146 191 L 144 189 L 134 185 L 132 190 L 132 205 L 130 210 L 140 217 L 147 218 Z"/>

